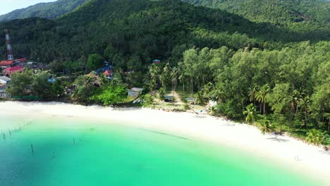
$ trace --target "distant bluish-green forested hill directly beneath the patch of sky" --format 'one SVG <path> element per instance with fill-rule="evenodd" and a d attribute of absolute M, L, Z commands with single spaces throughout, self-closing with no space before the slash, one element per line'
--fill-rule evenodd
<path fill-rule="evenodd" d="M 0 21 L 31 17 L 54 19 L 73 11 L 86 1 L 88 0 L 58 0 L 51 3 L 40 3 L 6 13 L 0 16 Z"/>

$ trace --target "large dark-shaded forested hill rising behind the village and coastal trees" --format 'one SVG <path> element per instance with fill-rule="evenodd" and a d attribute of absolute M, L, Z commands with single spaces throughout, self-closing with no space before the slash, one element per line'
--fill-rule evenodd
<path fill-rule="evenodd" d="M 253 23 L 233 13 L 179 0 L 91 0 L 56 20 L 29 18 L 0 23 L 11 32 L 17 57 L 36 61 L 76 60 L 98 53 L 106 59 L 179 56 L 192 46 L 274 49 L 288 42 L 329 39 L 329 29 L 288 30 Z M 0 32 L 1 58 L 5 58 Z M 128 61 L 128 60 L 123 60 Z M 140 62 L 139 62 L 140 63 Z"/>

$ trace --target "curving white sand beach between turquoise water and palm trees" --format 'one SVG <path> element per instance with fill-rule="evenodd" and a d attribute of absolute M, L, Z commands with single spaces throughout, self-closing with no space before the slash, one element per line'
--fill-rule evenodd
<path fill-rule="evenodd" d="M 302 174 L 317 176 L 330 184 L 330 151 L 305 144 L 291 137 L 262 135 L 255 127 L 222 118 L 194 113 L 174 113 L 152 109 L 112 109 L 63 103 L 0 102 L 0 114 L 27 116 L 70 116 L 129 123 L 138 128 L 168 132 L 222 146 L 250 151 L 257 158 L 288 165 Z M 298 160 L 296 159 L 298 156 Z M 303 176 L 303 175 L 302 175 Z"/>

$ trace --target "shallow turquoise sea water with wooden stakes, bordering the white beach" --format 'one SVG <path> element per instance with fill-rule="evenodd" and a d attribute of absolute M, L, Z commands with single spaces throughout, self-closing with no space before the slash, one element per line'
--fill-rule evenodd
<path fill-rule="evenodd" d="M 0 129 L 1 186 L 321 185 L 245 151 L 111 121 L 1 116 Z"/>

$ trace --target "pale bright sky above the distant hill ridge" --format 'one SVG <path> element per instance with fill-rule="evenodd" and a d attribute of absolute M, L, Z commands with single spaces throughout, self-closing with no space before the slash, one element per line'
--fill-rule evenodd
<path fill-rule="evenodd" d="M 38 3 L 53 2 L 56 0 L 0 0 L 0 15 L 15 11 L 16 9 L 26 8 L 27 6 Z"/>

